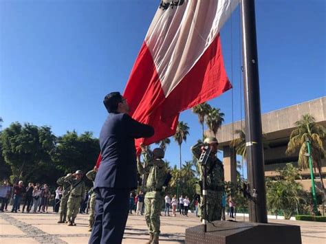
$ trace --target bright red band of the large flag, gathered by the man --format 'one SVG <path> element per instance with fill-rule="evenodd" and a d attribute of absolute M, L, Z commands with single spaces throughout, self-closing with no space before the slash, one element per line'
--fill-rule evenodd
<path fill-rule="evenodd" d="M 174 135 L 180 111 L 215 98 L 231 87 L 224 69 L 219 35 L 167 98 L 151 52 L 143 43 L 124 97 L 131 108 L 130 115 L 139 122 L 153 126 L 155 134 L 136 140 L 136 146 L 142 141 L 148 145 Z"/>

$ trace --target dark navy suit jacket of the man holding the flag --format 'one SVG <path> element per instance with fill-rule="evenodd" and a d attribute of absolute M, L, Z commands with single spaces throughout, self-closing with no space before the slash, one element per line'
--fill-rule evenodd
<path fill-rule="evenodd" d="M 94 188 L 137 188 L 135 138 L 153 134 L 153 127 L 133 120 L 126 113 L 109 113 L 100 131 L 102 162 Z"/>

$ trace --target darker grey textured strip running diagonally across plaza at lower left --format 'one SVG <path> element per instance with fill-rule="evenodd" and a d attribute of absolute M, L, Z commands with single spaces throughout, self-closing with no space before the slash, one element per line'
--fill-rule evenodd
<path fill-rule="evenodd" d="M 24 235 L 24 237 L 30 237 L 32 239 L 35 239 L 39 243 L 56 243 L 56 244 L 67 243 L 61 239 L 58 239 L 58 237 L 53 234 L 48 234 L 46 232 L 43 232 L 43 230 L 34 227 L 33 225 L 24 223 L 23 221 L 19 221 L 14 217 L 11 217 L 9 214 L 0 214 L 0 217 L 1 219 L 7 221 L 8 223 L 14 225 L 15 227 L 19 228 L 22 232 L 24 232 L 26 234 L 26 236 Z M 11 235 L 10 238 L 14 238 L 14 235 Z"/>

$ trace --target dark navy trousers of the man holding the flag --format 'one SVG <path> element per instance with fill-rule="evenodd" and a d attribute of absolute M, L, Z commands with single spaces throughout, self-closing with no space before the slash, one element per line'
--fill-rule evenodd
<path fill-rule="evenodd" d="M 89 244 L 120 244 L 128 218 L 130 189 L 94 190 L 95 218 Z"/>

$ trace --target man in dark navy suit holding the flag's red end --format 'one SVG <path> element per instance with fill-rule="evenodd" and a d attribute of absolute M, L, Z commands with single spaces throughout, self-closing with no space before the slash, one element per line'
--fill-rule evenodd
<path fill-rule="evenodd" d="M 151 137 L 153 127 L 133 120 L 127 100 L 112 92 L 104 98 L 109 112 L 100 131 L 102 161 L 94 181 L 96 210 L 89 243 L 121 243 L 130 191 L 137 188 L 135 138 Z"/>

